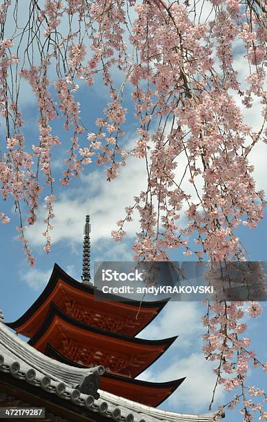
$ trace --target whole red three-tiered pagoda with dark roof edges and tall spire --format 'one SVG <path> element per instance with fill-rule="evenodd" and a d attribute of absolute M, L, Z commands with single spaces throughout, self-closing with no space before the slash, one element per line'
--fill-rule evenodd
<path fill-rule="evenodd" d="M 146 340 L 137 337 L 167 301 L 118 301 L 112 294 L 94 300 L 90 282 L 90 217 L 86 216 L 81 282 L 55 264 L 46 288 L 12 323 L 17 334 L 42 354 L 76 368 L 103 365 L 100 389 L 130 401 L 157 407 L 185 378 L 150 383 L 136 377 L 152 365 L 177 336 Z M 137 317 L 138 314 L 138 317 Z"/>

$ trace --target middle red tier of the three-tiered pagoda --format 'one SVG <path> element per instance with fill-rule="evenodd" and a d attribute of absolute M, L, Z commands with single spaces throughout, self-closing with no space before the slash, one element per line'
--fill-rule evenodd
<path fill-rule="evenodd" d="M 146 340 L 90 327 L 51 303 L 41 327 L 28 343 L 40 352 L 45 352 L 46 345 L 51 343 L 70 361 L 86 366 L 101 364 L 107 372 L 132 379 L 155 362 L 176 339 L 177 336 Z"/>

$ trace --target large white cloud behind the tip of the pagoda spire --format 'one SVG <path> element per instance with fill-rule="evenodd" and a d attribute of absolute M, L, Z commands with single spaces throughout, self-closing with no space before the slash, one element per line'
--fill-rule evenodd
<path fill-rule="evenodd" d="M 131 205 L 133 196 L 138 195 L 144 188 L 146 169 L 144 160 L 131 157 L 128 165 L 121 168 L 121 174 L 117 179 L 108 183 L 106 174 L 101 170 L 95 170 L 88 176 L 81 177 L 79 188 L 67 188 L 66 193 L 61 194 L 55 202 L 55 228 L 52 231 L 54 243 L 60 240 L 81 242 L 83 234 L 83 221 L 89 212 L 92 221 L 92 243 L 100 239 L 111 240 L 111 230 L 116 230 L 116 222 L 124 217 L 124 208 Z M 39 221 L 28 229 L 28 238 L 32 245 L 42 245 L 44 239 L 43 219 L 45 210 L 39 214 Z M 128 236 L 134 237 L 138 229 L 138 221 L 126 225 Z M 100 243 L 97 244 L 97 248 Z M 120 249 L 122 246 L 112 248 Z"/>

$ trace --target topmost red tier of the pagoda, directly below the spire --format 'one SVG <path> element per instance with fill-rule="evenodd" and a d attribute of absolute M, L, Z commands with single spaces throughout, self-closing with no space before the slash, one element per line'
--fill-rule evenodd
<path fill-rule="evenodd" d="M 6 323 L 20 334 L 34 336 L 54 302 L 63 312 L 92 327 L 136 336 L 159 314 L 167 300 L 142 302 L 119 301 L 112 294 L 97 294 L 93 285 L 79 283 L 55 264 L 46 288 L 32 306 L 12 323 Z M 99 297 L 101 300 L 99 300 Z M 138 313 L 138 317 L 137 317 Z"/>

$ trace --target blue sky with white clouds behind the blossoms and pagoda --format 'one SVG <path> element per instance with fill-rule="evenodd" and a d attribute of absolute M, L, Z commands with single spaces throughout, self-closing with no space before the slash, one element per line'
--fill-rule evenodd
<path fill-rule="evenodd" d="M 241 55 L 237 57 L 237 68 L 243 72 L 245 67 Z M 23 112 L 23 132 L 26 134 L 28 145 L 38 142 L 37 105 L 26 83 L 22 86 L 21 110 Z M 82 86 L 77 93 L 77 100 L 81 103 L 81 117 L 86 126 L 86 132 L 95 130 L 95 119 L 101 117 L 106 106 L 106 90 L 101 81 L 96 86 L 88 88 Z M 135 120 L 130 117 L 132 106 L 130 90 L 126 86 L 124 98 L 129 111 L 126 122 L 124 142 L 128 145 L 135 139 Z M 239 101 L 239 97 L 237 97 Z M 259 108 L 243 110 L 247 123 L 257 127 L 259 125 Z M 95 164 L 86 167 L 79 179 L 72 180 L 68 188 L 63 188 L 59 179 L 64 168 L 63 159 L 67 158 L 66 148 L 70 145 L 69 134 L 62 129 L 63 121 L 59 119 L 53 123 L 55 134 L 59 134 L 61 145 L 54 148 L 52 172 L 55 177 L 54 192 L 57 197 L 55 203 L 55 229 L 52 232 L 52 251 L 46 254 L 43 251 L 45 244 L 42 236 L 43 218 L 45 210 L 43 203 L 39 209 L 39 221 L 28 230 L 28 238 L 37 263 L 30 268 L 26 263 L 21 250 L 21 243 L 17 240 L 14 229 L 19 223 L 19 217 L 14 213 L 12 201 L 1 202 L 0 210 L 8 214 L 11 221 L 8 225 L 1 225 L 1 293 L 0 308 L 3 309 L 6 321 L 17 319 L 25 312 L 32 302 L 37 299 L 48 282 L 54 263 L 58 263 L 63 270 L 77 280 L 81 276 L 83 225 L 87 212 L 92 222 L 92 261 L 119 261 L 132 258 L 132 244 L 135 232 L 138 230 L 138 218 L 126 226 L 127 237 L 121 243 L 115 243 L 110 237 L 111 230 L 115 230 L 116 221 L 123 217 L 124 207 L 132 203 L 132 197 L 139 194 L 144 186 L 146 171 L 144 163 L 132 158 L 126 168 L 121 169 L 119 178 L 108 183 L 103 167 Z M 3 128 L 0 128 L 3 138 Z M 83 136 L 83 145 L 86 145 L 86 134 Z M 255 179 L 259 188 L 266 186 L 266 146 L 257 145 L 251 154 L 251 161 L 255 164 Z M 190 188 L 190 183 L 188 183 Z M 48 191 L 41 194 L 43 199 Z M 11 211 L 10 211 L 11 210 Z M 186 220 L 184 219 L 184 223 Z M 261 221 L 255 230 L 241 227 L 238 235 L 250 252 L 251 259 L 267 261 L 266 259 L 266 219 Z M 172 252 L 175 261 L 184 260 L 184 255 Z M 161 358 L 148 368 L 141 378 L 150 381 L 169 381 L 187 376 L 186 381 L 172 394 L 170 399 L 161 405 L 161 408 L 185 413 L 207 412 L 212 395 L 212 388 L 216 381 L 212 375 L 210 364 L 201 353 L 203 345 L 201 334 L 201 315 L 205 308 L 201 303 L 168 303 L 166 308 L 149 325 L 140 336 L 148 339 L 160 339 L 172 335 L 179 338 Z M 250 319 L 248 336 L 252 339 L 251 349 L 258 352 L 259 360 L 266 361 L 267 350 L 267 306 L 263 305 L 263 313 L 258 319 Z M 265 336 L 264 336 L 265 333 Z M 251 370 L 249 384 L 259 388 L 266 387 L 266 379 L 261 369 Z M 217 404 L 224 404 L 230 395 L 219 389 Z M 237 410 L 226 413 L 226 421 L 241 421 Z"/>

